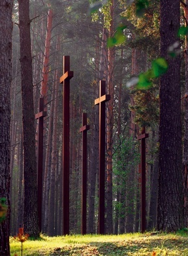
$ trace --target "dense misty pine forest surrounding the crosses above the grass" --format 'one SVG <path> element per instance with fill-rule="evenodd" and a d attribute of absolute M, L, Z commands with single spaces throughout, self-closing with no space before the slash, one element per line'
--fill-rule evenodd
<path fill-rule="evenodd" d="M 65 207 L 67 234 L 81 234 L 83 113 L 89 126 L 86 233 L 100 233 L 101 122 L 95 100 L 101 95 L 101 81 L 106 81 L 110 96 L 104 117 L 104 234 L 142 230 L 139 136 L 143 134 L 148 135 L 144 139 L 146 230 L 187 228 L 188 0 L 1 2 L 0 254 L 10 255 L 7 241 L 20 227 L 31 237 L 39 237 L 40 232 L 65 234 Z M 63 56 L 70 56 L 69 71 L 74 72 L 66 101 L 67 148 L 63 146 L 66 99 L 59 82 L 65 71 Z M 39 98 L 44 100 L 43 109 Z M 39 113 L 44 127 L 38 156 Z M 63 183 L 66 151 L 69 191 Z M 41 206 L 37 204 L 39 159 Z M 64 202 L 65 192 L 69 205 Z"/>

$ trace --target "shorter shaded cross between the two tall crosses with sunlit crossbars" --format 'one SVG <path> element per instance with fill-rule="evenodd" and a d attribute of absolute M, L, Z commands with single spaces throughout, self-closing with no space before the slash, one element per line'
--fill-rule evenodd
<path fill-rule="evenodd" d="M 86 234 L 87 223 L 87 113 L 82 113 L 82 234 Z"/>

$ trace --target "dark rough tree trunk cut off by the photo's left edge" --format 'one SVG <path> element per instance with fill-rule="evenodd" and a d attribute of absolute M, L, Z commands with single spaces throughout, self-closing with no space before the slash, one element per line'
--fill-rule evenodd
<path fill-rule="evenodd" d="M 0 224 L 0 255 L 10 256 L 10 84 L 12 79 L 12 1 L 1 1 L 0 8 L 0 198 L 7 200 L 8 214 Z"/>

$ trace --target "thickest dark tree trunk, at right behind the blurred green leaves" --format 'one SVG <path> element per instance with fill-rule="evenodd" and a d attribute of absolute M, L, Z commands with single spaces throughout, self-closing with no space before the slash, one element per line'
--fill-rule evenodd
<path fill-rule="evenodd" d="M 168 47 L 178 41 L 180 1 L 161 0 L 161 56 L 168 71 L 161 76 L 159 124 L 159 197 L 157 229 L 183 227 L 183 172 L 181 163 L 180 56 L 169 58 Z"/>

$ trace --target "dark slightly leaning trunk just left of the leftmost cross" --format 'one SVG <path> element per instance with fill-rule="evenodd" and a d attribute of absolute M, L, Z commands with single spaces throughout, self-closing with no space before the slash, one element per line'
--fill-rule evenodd
<path fill-rule="evenodd" d="M 39 236 L 37 215 L 37 165 L 35 156 L 35 115 L 29 0 L 18 0 L 20 27 L 20 64 L 22 77 L 22 122 L 24 130 L 24 231 Z"/>

